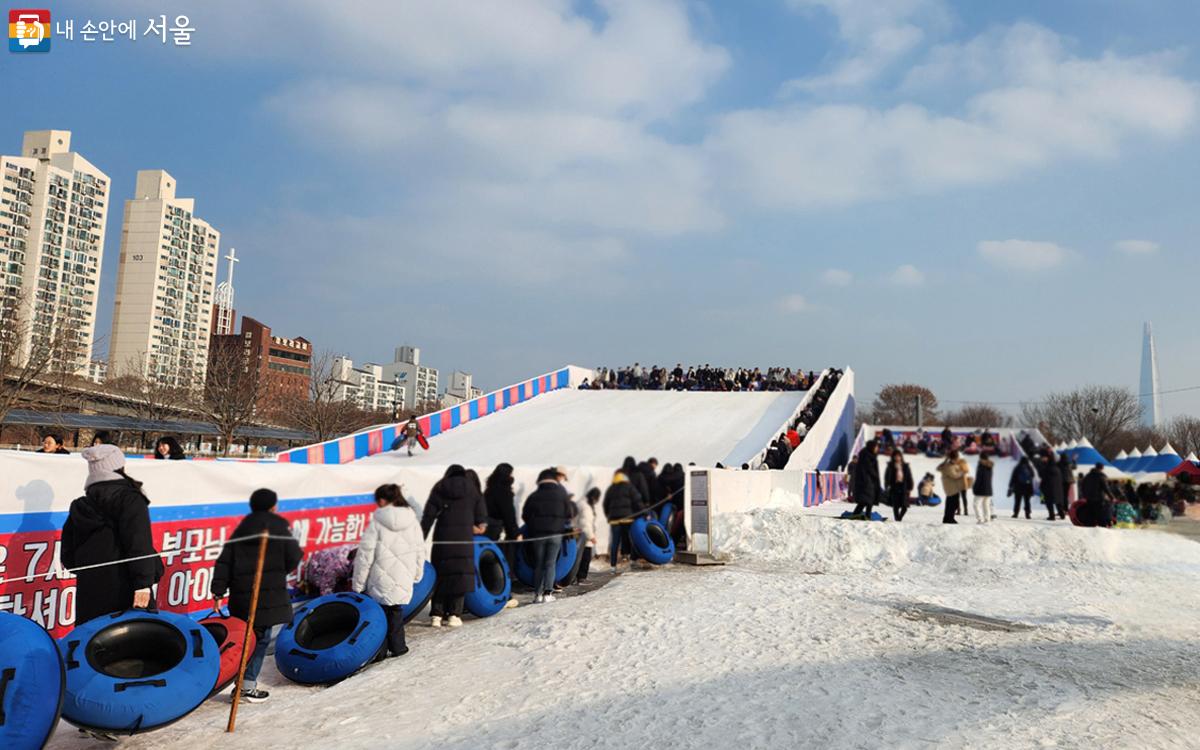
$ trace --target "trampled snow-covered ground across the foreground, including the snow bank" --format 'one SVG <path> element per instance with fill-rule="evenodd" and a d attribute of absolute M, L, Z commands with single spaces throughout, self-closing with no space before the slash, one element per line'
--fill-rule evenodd
<path fill-rule="evenodd" d="M 823 512 L 840 510 L 832 506 Z M 1188 748 L 1200 545 L 782 509 L 716 520 L 725 568 L 628 572 L 329 689 L 282 680 L 122 748 Z M 941 605 L 1031 626 L 912 619 Z M 70 727 L 52 748 L 83 748 Z"/>

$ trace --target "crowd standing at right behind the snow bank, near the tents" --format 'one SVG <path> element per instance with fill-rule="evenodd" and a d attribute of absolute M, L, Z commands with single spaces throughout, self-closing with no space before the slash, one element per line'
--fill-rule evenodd
<path fill-rule="evenodd" d="M 990 437 L 984 431 L 983 437 Z M 958 516 L 971 514 L 967 493 L 974 499 L 974 517 L 978 523 L 989 523 L 996 518 L 992 508 L 995 488 L 992 470 L 995 463 L 989 450 L 992 443 L 980 443 L 983 450 L 976 473 L 960 449 L 960 439 L 949 428 L 943 431 L 941 443 L 949 446 L 944 461 L 937 466 L 941 474 L 943 498 L 943 523 L 958 523 Z M 1187 485 L 1142 484 L 1134 488 L 1133 480 L 1112 480 L 1105 475 L 1103 463 L 1097 463 L 1087 473 L 1079 470 L 1067 454 L 1057 455 L 1049 445 L 1034 445 L 1031 436 L 1021 440 L 1022 450 L 1016 467 L 1008 482 L 1008 497 L 1013 498 L 1013 518 L 1024 510 L 1026 518 L 1032 518 L 1032 498 L 1040 497 L 1046 506 L 1048 520 L 1060 521 L 1069 517 L 1072 490 L 1078 482 L 1079 499 L 1075 506 L 1075 520 L 1081 526 L 1104 527 L 1132 526 L 1153 521 L 1171 512 L 1168 506 L 1195 502 L 1195 493 Z M 935 478 L 925 474 L 914 485 L 912 469 L 905 460 L 905 450 L 893 446 L 888 455 L 883 475 L 880 475 L 877 456 L 881 440 L 869 440 L 847 468 L 851 499 L 854 500 L 854 518 L 870 518 L 875 505 L 889 505 L 893 518 L 902 521 L 908 506 L 916 502 L 920 505 L 931 504 L 935 492 Z M 887 455 L 887 454 L 886 454 Z M 917 491 L 916 499 L 912 498 Z"/>

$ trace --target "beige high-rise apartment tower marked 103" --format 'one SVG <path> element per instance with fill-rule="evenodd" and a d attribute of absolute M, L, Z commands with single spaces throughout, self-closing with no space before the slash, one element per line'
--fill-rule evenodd
<path fill-rule="evenodd" d="M 204 385 L 221 234 L 175 197 L 162 169 L 138 172 L 125 202 L 108 366 L 179 388 Z"/>

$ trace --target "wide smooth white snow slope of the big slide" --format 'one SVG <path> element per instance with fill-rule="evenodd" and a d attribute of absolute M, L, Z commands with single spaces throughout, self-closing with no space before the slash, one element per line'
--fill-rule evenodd
<path fill-rule="evenodd" d="M 618 467 L 625 456 L 654 456 L 740 466 L 779 434 L 804 396 L 562 390 L 436 436 L 412 458 L 385 452 L 360 463 Z"/>

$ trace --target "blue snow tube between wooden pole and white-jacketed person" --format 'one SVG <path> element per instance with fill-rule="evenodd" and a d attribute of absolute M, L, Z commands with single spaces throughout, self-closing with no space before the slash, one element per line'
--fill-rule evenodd
<path fill-rule="evenodd" d="M 329 685 L 370 664 L 386 637 L 388 620 L 374 599 L 349 592 L 318 596 L 280 632 L 275 666 L 294 683 Z"/>

